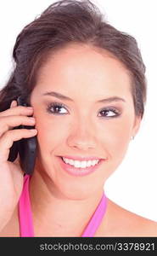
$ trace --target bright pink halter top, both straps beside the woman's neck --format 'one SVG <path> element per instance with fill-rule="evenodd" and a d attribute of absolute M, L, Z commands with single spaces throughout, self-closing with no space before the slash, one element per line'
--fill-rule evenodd
<path fill-rule="evenodd" d="M 31 215 L 31 201 L 29 196 L 30 177 L 31 176 L 27 174 L 25 175 L 23 190 L 20 195 L 20 201 L 19 201 L 20 237 L 34 236 L 32 215 Z M 106 212 L 106 207 L 107 207 L 107 198 L 103 194 L 101 200 L 98 203 L 98 207 L 96 208 L 95 212 L 93 212 L 93 216 L 90 219 L 89 223 L 87 224 L 87 227 L 84 230 L 83 235 L 81 237 L 94 236 L 95 232 L 98 230 L 98 226 L 102 222 L 102 218 L 104 217 L 104 213 Z"/>

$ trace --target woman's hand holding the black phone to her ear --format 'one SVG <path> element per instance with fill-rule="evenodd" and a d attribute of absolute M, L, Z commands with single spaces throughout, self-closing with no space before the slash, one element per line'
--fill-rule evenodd
<path fill-rule="evenodd" d="M 8 223 L 23 188 L 24 172 L 20 168 L 20 157 L 8 161 L 9 150 L 15 141 L 36 136 L 36 129 L 14 129 L 19 125 L 35 125 L 33 109 L 11 103 L 10 108 L 0 112 L 0 230 Z"/>

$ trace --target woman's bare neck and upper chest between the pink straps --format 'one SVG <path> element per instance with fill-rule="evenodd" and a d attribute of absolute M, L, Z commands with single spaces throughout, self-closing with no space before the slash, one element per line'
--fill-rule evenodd
<path fill-rule="evenodd" d="M 103 194 L 102 188 L 86 199 L 70 199 L 55 188 L 47 175 L 34 172 L 30 199 L 35 235 L 81 236 Z"/>

